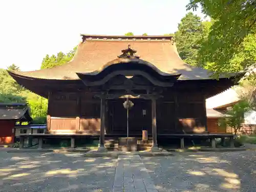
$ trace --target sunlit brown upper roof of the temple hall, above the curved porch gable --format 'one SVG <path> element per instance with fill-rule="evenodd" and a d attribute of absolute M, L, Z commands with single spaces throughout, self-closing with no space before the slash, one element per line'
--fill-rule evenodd
<path fill-rule="evenodd" d="M 97 71 L 109 61 L 116 59 L 128 45 L 137 50 L 140 59 L 145 60 L 160 71 L 181 74 L 179 80 L 210 79 L 209 71 L 191 67 L 177 52 L 172 36 L 104 36 L 82 35 L 82 42 L 70 62 L 50 69 L 16 72 L 11 76 L 39 79 L 79 79 L 76 73 Z"/>

